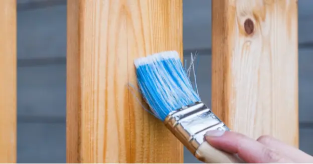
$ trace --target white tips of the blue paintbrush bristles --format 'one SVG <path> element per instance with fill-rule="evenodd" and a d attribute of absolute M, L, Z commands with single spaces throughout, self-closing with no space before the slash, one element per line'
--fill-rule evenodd
<path fill-rule="evenodd" d="M 140 66 L 140 65 L 144 65 L 144 64 L 149 64 L 152 63 L 154 61 L 158 61 L 158 60 L 166 60 L 169 58 L 173 58 L 173 59 L 179 59 L 179 54 L 177 51 L 163 51 L 163 52 L 159 52 L 159 53 L 153 53 L 151 55 L 148 55 L 146 57 L 140 57 L 134 60 L 134 64 L 136 67 Z"/>

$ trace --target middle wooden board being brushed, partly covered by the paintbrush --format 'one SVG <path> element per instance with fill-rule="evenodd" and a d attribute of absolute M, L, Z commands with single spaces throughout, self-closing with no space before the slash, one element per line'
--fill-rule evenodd
<path fill-rule="evenodd" d="M 127 85 L 135 58 L 182 54 L 182 0 L 68 0 L 67 10 L 67 162 L 183 162 L 183 145 Z"/>

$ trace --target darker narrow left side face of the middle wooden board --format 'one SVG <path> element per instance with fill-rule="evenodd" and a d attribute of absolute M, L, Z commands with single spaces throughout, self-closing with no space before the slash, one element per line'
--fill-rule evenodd
<path fill-rule="evenodd" d="M 67 52 L 66 52 L 66 162 L 81 162 L 81 88 L 79 2 L 67 4 Z"/>

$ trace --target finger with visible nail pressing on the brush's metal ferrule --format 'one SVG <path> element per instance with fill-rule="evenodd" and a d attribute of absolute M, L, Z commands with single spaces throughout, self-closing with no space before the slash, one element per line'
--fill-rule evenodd
<path fill-rule="evenodd" d="M 206 133 L 205 138 L 212 146 L 229 153 L 237 153 L 248 163 L 291 162 L 279 152 L 240 133 L 212 130 Z"/>

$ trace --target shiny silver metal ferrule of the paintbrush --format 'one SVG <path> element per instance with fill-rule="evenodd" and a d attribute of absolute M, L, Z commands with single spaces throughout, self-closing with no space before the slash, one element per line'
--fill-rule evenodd
<path fill-rule="evenodd" d="M 164 123 L 195 154 L 208 130 L 229 128 L 201 101 L 174 110 Z"/>

